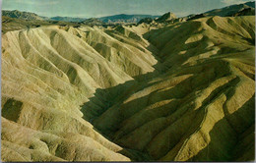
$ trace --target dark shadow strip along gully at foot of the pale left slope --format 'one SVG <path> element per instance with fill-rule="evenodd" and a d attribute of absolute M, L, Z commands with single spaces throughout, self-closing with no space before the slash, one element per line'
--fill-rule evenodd
<path fill-rule="evenodd" d="M 150 79 L 160 76 L 160 74 L 163 72 L 163 69 L 161 66 L 160 58 L 157 54 L 159 53 L 158 49 L 156 49 L 156 47 L 152 44 L 146 47 L 146 49 L 151 51 L 155 59 L 158 61 L 158 63 L 153 66 L 155 70 L 147 74 L 132 77 L 134 79 L 132 81 L 125 81 L 124 83 L 120 83 L 118 85 L 108 88 L 97 88 L 94 97 L 90 98 L 90 101 L 86 102 L 81 106 L 81 112 L 83 113 L 83 118 L 85 120 L 94 125 L 94 121 L 96 120 L 96 118 L 101 116 L 114 104 L 122 103 L 127 97 L 134 94 L 140 88 L 143 88 L 140 87 L 142 82 L 145 82 L 145 84 L 147 84 L 147 81 L 149 81 Z M 109 133 L 106 134 L 96 128 L 94 129 L 102 136 L 112 141 Z M 138 150 L 124 148 L 122 151 L 120 151 L 120 153 L 126 155 L 134 161 L 152 161 L 147 153 Z"/>

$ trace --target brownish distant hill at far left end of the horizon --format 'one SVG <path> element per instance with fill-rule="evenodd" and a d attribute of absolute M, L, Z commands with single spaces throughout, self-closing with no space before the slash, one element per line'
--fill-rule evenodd
<path fill-rule="evenodd" d="M 2 16 L 10 17 L 10 18 L 17 18 L 17 19 L 22 19 L 22 20 L 38 20 L 38 21 L 47 20 L 46 17 L 40 17 L 34 13 L 21 12 L 18 10 L 13 10 L 13 11 L 3 10 Z"/>

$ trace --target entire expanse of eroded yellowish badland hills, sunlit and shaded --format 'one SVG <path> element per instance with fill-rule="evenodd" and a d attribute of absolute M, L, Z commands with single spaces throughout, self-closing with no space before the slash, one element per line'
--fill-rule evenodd
<path fill-rule="evenodd" d="M 8 31 L 2 160 L 254 160 L 254 42 L 254 16 Z"/>

